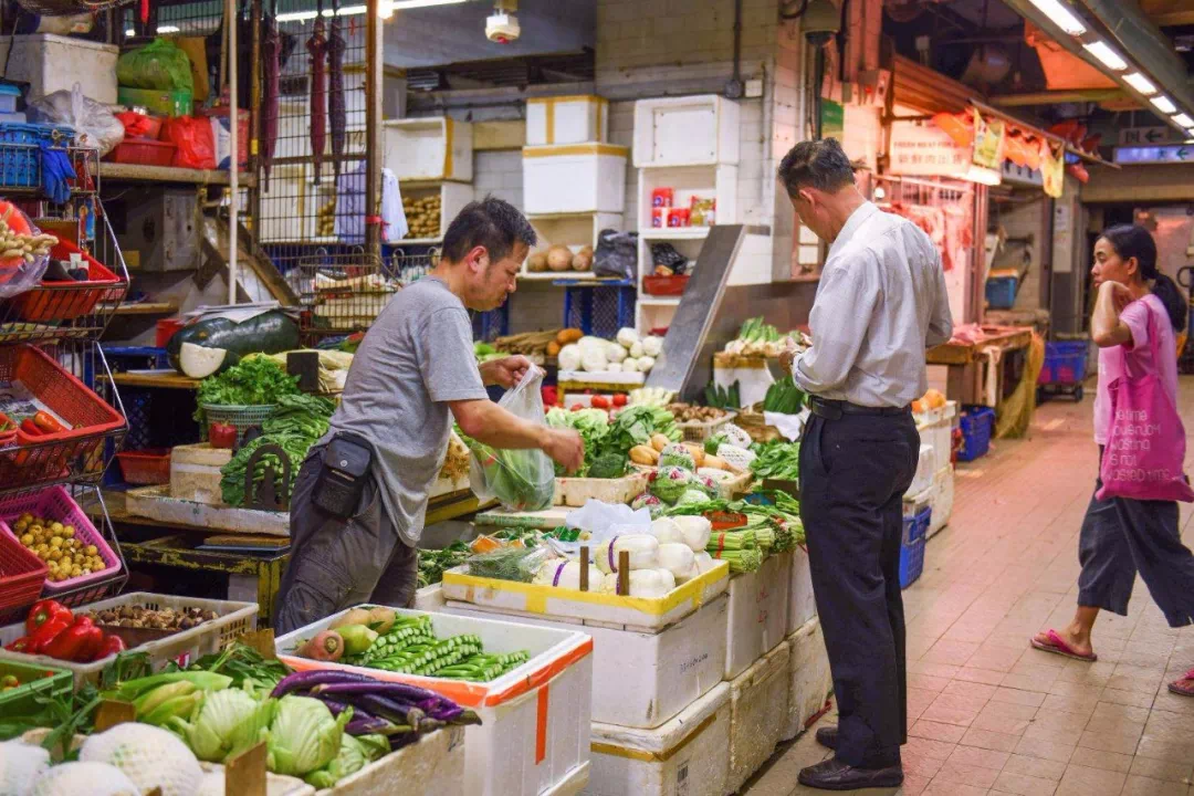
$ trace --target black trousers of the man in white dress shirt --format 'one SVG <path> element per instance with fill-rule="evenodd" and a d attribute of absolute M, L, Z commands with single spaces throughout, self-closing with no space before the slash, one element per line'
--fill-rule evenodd
<path fill-rule="evenodd" d="M 810 419 L 800 448 L 800 517 L 833 674 L 837 758 L 899 765 L 907 741 L 903 498 L 921 437 L 911 414 Z"/>

